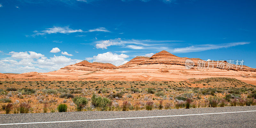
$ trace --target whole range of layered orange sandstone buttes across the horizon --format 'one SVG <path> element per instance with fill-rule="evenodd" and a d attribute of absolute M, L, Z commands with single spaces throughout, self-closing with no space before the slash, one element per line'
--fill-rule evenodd
<path fill-rule="evenodd" d="M 190 60 L 193 67 L 186 68 Z M 22 77 L 17 77 L 22 76 Z M 24 77 L 23 77 L 24 76 Z M 205 61 L 181 58 L 167 51 L 152 57 L 137 56 L 129 62 L 114 66 L 110 63 L 90 63 L 86 60 L 48 73 L 27 73 L 12 78 L 35 80 L 121 80 L 121 81 L 183 81 L 190 78 L 229 77 L 256 85 L 256 69 L 229 64 L 226 61 Z"/>

